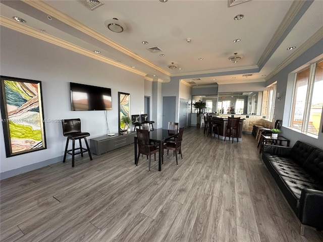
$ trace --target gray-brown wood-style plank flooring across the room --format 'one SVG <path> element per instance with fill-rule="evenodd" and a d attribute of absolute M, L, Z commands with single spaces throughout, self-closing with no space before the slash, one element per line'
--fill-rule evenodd
<path fill-rule="evenodd" d="M 318 242 L 262 164 L 251 135 L 232 144 L 184 131 L 182 153 L 134 165 L 134 146 L 1 181 L 1 241 Z M 157 156 L 158 157 L 158 156 Z"/>

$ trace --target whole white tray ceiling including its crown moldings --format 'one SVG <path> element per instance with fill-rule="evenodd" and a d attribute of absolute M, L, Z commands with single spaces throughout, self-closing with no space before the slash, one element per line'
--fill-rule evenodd
<path fill-rule="evenodd" d="M 101 2 L 91 11 L 78 1 L 1 1 L 1 25 L 90 57 L 99 50 L 94 58 L 138 71 L 148 80 L 166 82 L 177 76 L 189 83 L 200 78 L 194 81 L 198 86 L 264 82 L 323 36 L 320 0 L 252 0 L 232 7 L 228 0 Z M 235 21 L 238 14 L 244 18 Z M 17 26 L 13 16 L 26 23 Z M 104 26 L 112 18 L 125 24 L 124 32 Z M 45 33 L 36 33 L 40 29 Z M 163 51 L 146 49 L 153 46 Z M 290 46 L 296 49 L 287 50 Z M 236 52 L 243 58 L 232 63 L 228 58 Z M 168 68 L 172 62 L 177 69 Z M 253 75 L 242 77 L 247 73 Z"/>

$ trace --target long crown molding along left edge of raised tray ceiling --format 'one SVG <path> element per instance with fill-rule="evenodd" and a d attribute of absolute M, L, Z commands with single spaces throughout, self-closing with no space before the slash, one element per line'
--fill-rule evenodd
<path fill-rule="evenodd" d="M 50 15 L 51 17 L 54 17 L 58 19 L 59 21 L 101 41 L 102 43 L 105 43 L 107 45 L 110 45 L 111 47 L 121 51 L 124 54 L 129 55 L 130 57 L 136 59 L 137 61 L 155 69 L 156 71 L 159 71 L 167 76 L 171 76 L 171 73 L 165 71 L 164 69 L 154 65 L 153 63 L 147 61 L 147 59 L 141 57 L 140 55 L 132 52 L 131 50 L 127 49 L 126 47 L 118 44 L 117 42 L 105 37 L 104 35 L 94 31 L 93 29 L 87 27 L 86 25 L 76 21 L 75 19 L 69 17 L 68 15 L 60 12 L 59 10 L 51 7 L 50 5 L 44 3 L 43 1 L 34 1 L 34 0 L 22 0 L 22 2 L 30 5 L 31 7 L 38 9 L 42 11 L 45 14 Z"/>

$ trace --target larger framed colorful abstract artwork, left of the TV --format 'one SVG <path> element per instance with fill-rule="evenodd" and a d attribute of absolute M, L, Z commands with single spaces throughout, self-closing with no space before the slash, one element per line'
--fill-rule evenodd
<path fill-rule="evenodd" d="M 7 157 L 46 149 L 41 82 L 1 76 Z"/>

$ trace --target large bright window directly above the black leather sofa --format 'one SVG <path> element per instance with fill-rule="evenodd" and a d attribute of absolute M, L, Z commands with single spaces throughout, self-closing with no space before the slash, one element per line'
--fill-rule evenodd
<path fill-rule="evenodd" d="M 323 106 L 323 61 L 296 74 L 290 126 L 318 135 Z"/>

